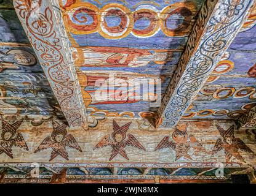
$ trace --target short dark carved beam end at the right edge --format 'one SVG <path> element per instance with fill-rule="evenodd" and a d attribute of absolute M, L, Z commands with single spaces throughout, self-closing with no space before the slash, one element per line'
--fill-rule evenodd
<path fill-rule="evenodd" d="M 256 106 L 247 110 L 247 112 L 238 118 L 239 128 L 256 129 Z"/>

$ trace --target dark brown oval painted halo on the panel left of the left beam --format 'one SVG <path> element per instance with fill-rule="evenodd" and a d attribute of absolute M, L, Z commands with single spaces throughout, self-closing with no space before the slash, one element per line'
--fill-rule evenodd
<path fill-rule="evenodd" d="M 34 66 L 36 64 L 36 57 L 25 50 L 9 50 L 7 55 L 14 55 L 15 62 L 21 66 Z"/>

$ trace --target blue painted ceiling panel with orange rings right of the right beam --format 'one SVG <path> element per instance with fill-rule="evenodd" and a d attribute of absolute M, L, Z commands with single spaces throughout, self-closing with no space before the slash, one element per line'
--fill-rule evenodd
<path fill-rule="evenodd" d="M 183 119 L 247 118 L 255 107 L 256 4 Z M 244 60 L 246 59 L 246 61 Z"/>

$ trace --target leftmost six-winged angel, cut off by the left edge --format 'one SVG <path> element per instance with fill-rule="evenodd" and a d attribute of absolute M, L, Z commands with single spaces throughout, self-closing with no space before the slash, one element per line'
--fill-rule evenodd
<path fill-rule="evenodd" d="M 18 128 L 21 126 L 23 119 L 16 121 L 15 123 L 8 123 L 1 119 L 1 140 L 0 140 L 0 154 L 4 153 L 11 159 L 14 158 L 12 153 L 12 147 L 17 146 L 18 148 L 28 151 L 28 146 L 20 133 Z"/>

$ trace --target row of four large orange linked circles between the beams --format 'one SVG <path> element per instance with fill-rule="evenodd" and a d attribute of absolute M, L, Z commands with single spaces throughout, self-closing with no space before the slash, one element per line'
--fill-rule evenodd
<path fill-rule="evenodd" d="M 137 37 L 151 37 L 159 31 L 164 32 L 167 37 L 188 36 L 192 23 L 193 12 L 196 10 L 194 4 L 191 3 L 174 3 L 162 9 L 159 14 L 151 8 L 140 8 L 131 12 L 127 7 L 121 4 L 111 3 L 98 9 L 88 2 L 80 2 L 65 7 L 63 14 L 67 29 L 73 34 L 91 34 L 98 32 L 106 39 L 121 39 L 130 34 Z M 78 15 L 80 16 L 78 17 Z M 184 20 L 176 28 L 171 29 L 167 25 L 172 15 L 182 15 Z M 118 26 L 108 26 L 106 17 L 119 17 L 121 22 Z M 88 24 L 90 17 L 91 23 Z M 137 20 L 146 18 L 150 21 L 150 25 L 145 29 L 135 29 L 134 23 Z"/>

